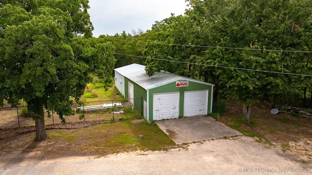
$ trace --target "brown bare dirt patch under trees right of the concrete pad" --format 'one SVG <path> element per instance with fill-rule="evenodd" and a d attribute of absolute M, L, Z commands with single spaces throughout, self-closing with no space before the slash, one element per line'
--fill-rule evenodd
<path fill-rule="evenodd" d="M 312 163 L 312 119 L 279 112 L 271 114 L 268 106 L 254 105 L 253 125 L 243 123 L 242 105 L 227 101 L 226 112 L 219 121 L 238 130 L 244 135 L 254 137 L 258 142 L 280 147 L 284 152 L 297 155 L 304 163 Z"/>

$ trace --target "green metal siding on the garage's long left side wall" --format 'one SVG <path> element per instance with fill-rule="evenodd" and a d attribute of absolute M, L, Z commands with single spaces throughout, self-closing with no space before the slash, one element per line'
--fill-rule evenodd
<path fill-rule="evenodd" d="M 134 86 L 134 103 L 133 104 L 136 109 L 142 111 L 142 105 L 143 105 L 143 100 L 147 101 L 147 92 L 144 88 L 138 86 L 136 83 L 133 81 L 129 80 L 128 78 L 125 77 L 125 97 L 129 98 L 129 82 L 133 84 Z M 142 99 L 136 99 L 136 98 L 143 98 Z"/>

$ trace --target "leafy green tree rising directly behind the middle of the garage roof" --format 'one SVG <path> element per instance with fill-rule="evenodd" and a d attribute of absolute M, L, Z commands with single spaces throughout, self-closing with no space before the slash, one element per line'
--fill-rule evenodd
<path fill-rule="evenodd" d="M 180 62 L 194 62 L 196 49 L 189 45 L 190 26 L 185 16 L 172 16 L 156 21 L 152 30 L 147 32 L 147 44 L 143 50 L 144 56 L 163 60 L 147 59 L 146 72 L 152 76 L 154 72 L 165 70 L 187 77 L 198 78 L 194 64 Z M 159 44 L 160 43 L 160 44 Z M 176 62 L 178 61 L 178 62 Z"/>

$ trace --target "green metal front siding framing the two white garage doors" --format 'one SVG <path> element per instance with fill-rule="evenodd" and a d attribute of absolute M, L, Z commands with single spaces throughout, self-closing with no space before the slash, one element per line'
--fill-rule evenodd
<path fill-rule="evenodd" d="M 183 81 L 183 80 L 182 80 Z M 189 81 L 188 87 L 176 87 L 176 82 L 153 88 L 149 90 L 149 120 L 153 119 L 153 94 L 154 93 L 168 93 L 168 92 L 180 92 L 180 101 L 179 101 L 179 117 L 183 117 L 184 113 L 184 91 L 192 91 L 192 90 L 205 90 L 208 89 L 208 106 L 207 111 L 208 113 L 211 113 L 211 94 L 212 94 L 212 86 L 195 83 Z"/>

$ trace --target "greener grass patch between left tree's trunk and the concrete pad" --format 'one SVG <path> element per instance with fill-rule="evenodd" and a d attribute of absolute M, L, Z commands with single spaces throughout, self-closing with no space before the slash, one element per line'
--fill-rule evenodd
<path fill-rule="evenodd" d="M 63 141 L 65 143 L 62 144 L 65 145 L 66 142 L 70 142 L 75 145 L 71 147 L 73 151 L 82 151 L 86 154 L 107 155 L 137 150 L 160 151 L 176 145 L 156 124 L 145 123 L 107 122 L 70 131 L 49 130 L 47 133 L 49 140 Z"/>

